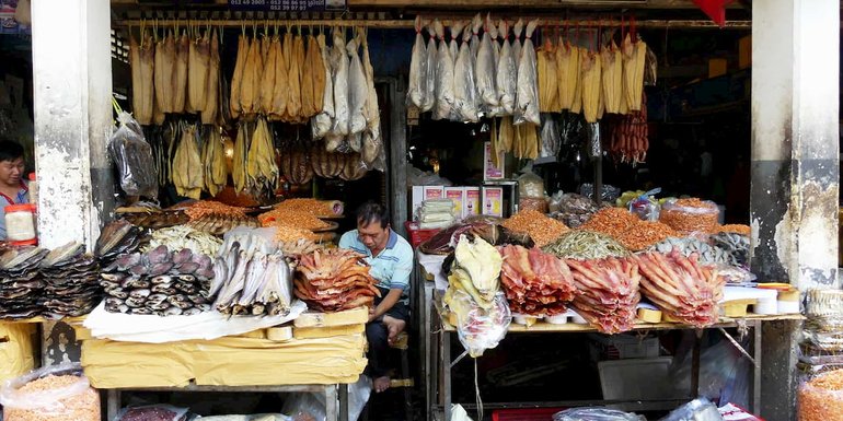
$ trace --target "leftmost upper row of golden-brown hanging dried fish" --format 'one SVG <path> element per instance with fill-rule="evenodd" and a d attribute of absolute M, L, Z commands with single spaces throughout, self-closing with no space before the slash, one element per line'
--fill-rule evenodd
<path fill-rule="evenodd" d="M 181 33 L 181 35 L 180 35 Z M 165 114 L 199 114 L 206 125 L 219 122 L 219 35 L 210 26 L 159 33 L 142 27 L 140 42 L 129 40 L 132 109 L 141 125 L 162 125 Z"/>

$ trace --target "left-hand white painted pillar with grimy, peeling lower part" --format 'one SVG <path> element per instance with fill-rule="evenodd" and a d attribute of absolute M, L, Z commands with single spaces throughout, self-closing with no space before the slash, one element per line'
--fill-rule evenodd
<path fill-rule="evenodd" d="M 34 0 L 32 17 L 39 239 L 93 248 L 113 189 L 111 4 Z"/>

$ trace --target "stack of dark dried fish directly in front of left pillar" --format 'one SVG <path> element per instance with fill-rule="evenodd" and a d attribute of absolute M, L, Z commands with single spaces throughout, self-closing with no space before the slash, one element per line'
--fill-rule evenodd
<path fill-rule="evenodd" d="M 96 282 L 100 265 L 85 245 L 69 243 L 50 252 L 41 262 L 43 315 L 77 317 L 90 313 L 102 296 Z"/>

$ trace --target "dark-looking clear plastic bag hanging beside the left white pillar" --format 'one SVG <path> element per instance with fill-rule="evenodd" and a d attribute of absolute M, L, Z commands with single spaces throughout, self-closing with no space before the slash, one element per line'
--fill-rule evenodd
<path fill-rule="evenodd" d="M 117 116 L 119 126 L 108 140 L 108 154 L 120 175 L 120 188 L 128 196 L 158 198 L 158 171 L 152 148 L 130 114 Z"/>

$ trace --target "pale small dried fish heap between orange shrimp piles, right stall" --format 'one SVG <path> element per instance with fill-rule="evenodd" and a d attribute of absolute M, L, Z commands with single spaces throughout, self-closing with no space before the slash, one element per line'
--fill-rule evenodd
<path fill-rule="evenodd" d="M 563 234 L 555 242 L 542 247 L 559 258 L 602 259 L 607 257 L 627 257 L 630 250 L 614 238 L 593 231 L 574 230 Z"/>

